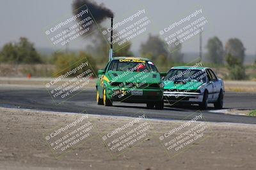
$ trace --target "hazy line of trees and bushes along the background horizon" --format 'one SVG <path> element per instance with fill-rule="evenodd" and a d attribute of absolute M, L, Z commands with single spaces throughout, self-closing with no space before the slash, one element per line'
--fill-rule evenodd
<path fill-rule="evenodd" d="M 6 43 L 0 51 L 0 62 L 12 64 L 54 64 L 58 70 L 70 66 L 75 60 L 86 57 L 97 70 L 108 62 L 109 45 L 106 39 L 98 32 L 91 37 L 92 44 L 86 46 L 84 52 L 80 53 L 53 53 L 49 59 L 45 60 L 40 53 L 36 52 L 35 46 L 28 38 L 20 38 L 16 43 Z M 133 56 L 131 52 L 131 42 L 124 43 L 121 46 L 113 45 L 115 56 Z M 241 40 L 237 38 L 228 39 L 225 47 L 216 36 L 208 39 L 205 46 L 207 53 L 205 58 L 213 64 L 225 64 L 229 71 L 229 76 L 234 80 L 246 78 L 243 66 L 245 57 L 245 48 Z M 182 44 L 167 46 L 159 36 L 149 34 L 147 41 L 140 45 L 141 57 L 146 57 L 160 67 L 170 68 L 173 63 L 184 64 L 184 54 L 182 53 Z M 93 56 L 93 57 L 92 57 Z M 256 63 L 255 63 L 256 64 Z"/>

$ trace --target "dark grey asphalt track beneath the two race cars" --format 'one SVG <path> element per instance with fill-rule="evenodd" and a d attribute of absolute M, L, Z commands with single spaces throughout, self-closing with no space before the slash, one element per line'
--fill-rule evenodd
<path fill-rule="evenodd" d="M 68 99 L 68 101 L 56 105 L 49 93 L 42 88 L 0 89 L 0 106 L 72 113 L 87 111 L 88 114 L 128 117 L 134 117 L 136 113 L 143 112 L 147 118 L 167 120 L 190 120 L 193 118 L 190 115 L 198 111 L 197 106 L 172 108 L 169 104 L 165 104 L 164 110 L 148 110 L 146 104 L 117 102 L 112 107 L 105 107 L 97 105 L 95 96 L 96 91 L 94 89 L 87 89 Z M 227 109 L 256 110 L 256 94 L 226 92 L 224 102 L 224 108 Z M 202 111 L 205 121 L 256 124 L 256 117 L 211 113 L 210 110 L 214 110 L 211 104 L 208 110 Z"/>

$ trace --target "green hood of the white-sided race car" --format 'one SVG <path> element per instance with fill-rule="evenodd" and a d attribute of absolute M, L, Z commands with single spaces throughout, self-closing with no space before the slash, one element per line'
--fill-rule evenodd
<path fill-rule="evenodd" d="M 201 81 L 187 81 L 182 84 L 182 81 L 164 81 L 164 89 L 179 89 L 179 90 L 198 90 L 203 85 Z"/>

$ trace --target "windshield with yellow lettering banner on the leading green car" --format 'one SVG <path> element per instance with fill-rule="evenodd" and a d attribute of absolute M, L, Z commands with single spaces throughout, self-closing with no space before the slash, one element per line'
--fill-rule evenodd
<path fill-rule="evenodd" d="M 113 60 L 108 71 L 134 71 L 134 72 L 158 72 L 153 62 L 140 59 L 120 59 Z"/>

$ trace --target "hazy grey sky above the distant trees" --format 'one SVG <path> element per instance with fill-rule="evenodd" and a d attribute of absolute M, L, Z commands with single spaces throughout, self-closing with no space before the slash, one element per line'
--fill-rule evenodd
<path fill-rule="evenodd" d="M 204 52 L 207 39 L 218 36 L 225 43 L 229 38 L 239 38 L 246 48 L 246 54 L 256 53 L 256 1 L 247 0 L 215 0 L 215 1 L 135 1 L 135 0 L 95 0 L 104 3 L 114 14 L 114 22 L 123 20 L 132 15 L 136 10 L 145 9 L 150 18 L 151 25 L 148 32 L 157 35 L 167 25 L 179 18 L 202 8 L 208 25 L 211 27 L 203 32 Z M 1 31 L 0 46 L 8 42 L 18 41 L 20 36 L 29 38 L 37 48 L 52 48 L 51 42 L 45 36 L 45 27 L 58 23 L 65 16 L 72 16 L 72 1 L 67 0 L 23 0 L 0 1 Z M 108 24 L 108 20 L 103 25 Z M 140 48 L 140 44 L 146 41 L 148 34 L 132 39 L 132 50 Z M 86 42 L 87 41 L 87 42 Z M 69 48 L 82 49 L 89 39 L 77 43 L 71 43 Z M 198 52 L 199 37 L 195 36 L 182 47 L 182 52 Z"/>

